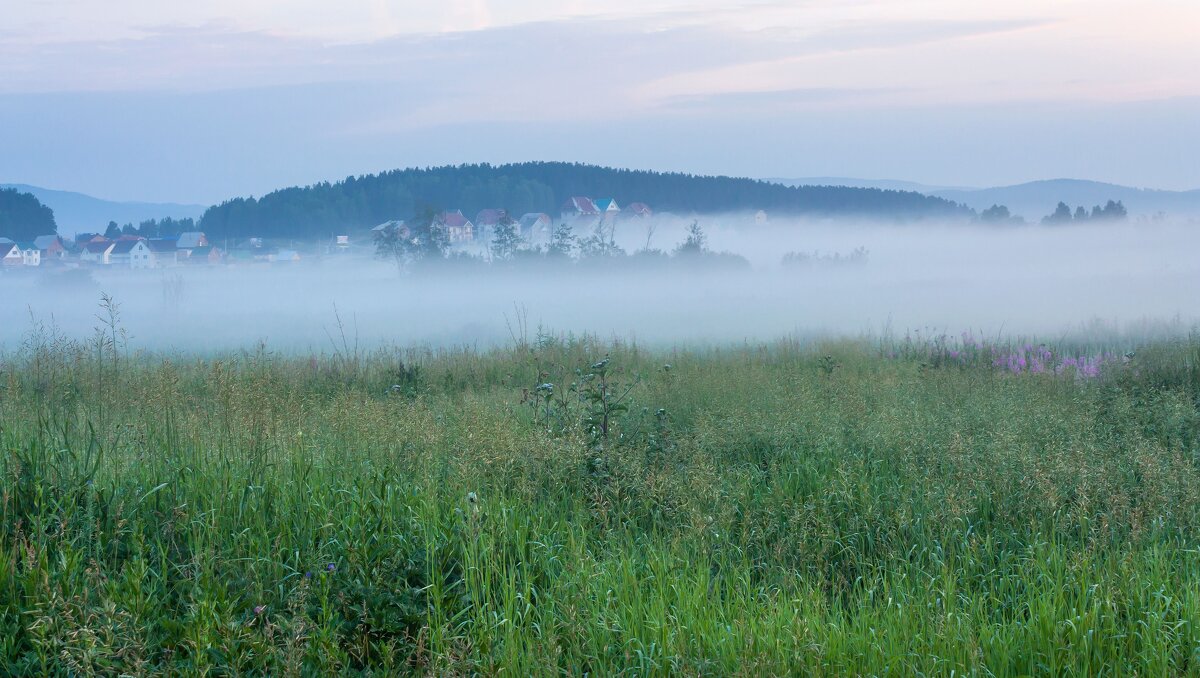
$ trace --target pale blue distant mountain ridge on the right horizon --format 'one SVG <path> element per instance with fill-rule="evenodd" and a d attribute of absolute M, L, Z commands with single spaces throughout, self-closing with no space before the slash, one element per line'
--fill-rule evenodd
<path fill-rule="evenodd" d="M 1157 212 L 1172 216 L 1200 215 L 1200 190 L 1134 188 L 1084 179 L 1045 179 L 990 188 L 929 186 L 912 181 L 829 176 L 774 179 L 772 181 L 785 185 L 904 187 L 904 190 L 961 203 L 977 211 L 985 210 L 991 205 L 1006 205 L 1010 212 L 1021 215 L 1031 222 L 1039 221 L 1043 216 L 1052 212 L 1060 202 L 1067 203 L 1072 208 L 1082 205 L 1091 209 L 1093 205 L 1104 205 L 1108 200 L 1120 200 L 1133 216 L 1150 216 Z M 823 181 L 828 182 L 814 184 Z"/>

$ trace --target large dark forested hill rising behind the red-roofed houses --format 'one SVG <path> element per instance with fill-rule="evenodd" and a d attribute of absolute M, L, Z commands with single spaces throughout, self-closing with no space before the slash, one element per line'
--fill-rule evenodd
<path fill-rule="evenodd" d="M 942 198 L 845 186 L 790 187 L 752 179 L 612 169 L 589 164 L 529 162 L 396 169 L 349 176 L 336 184 L 283 188 L 262 198 L 236 198 L 209 208 L 200 228 L 210 238 L 326 238 L 408 218 L 424 208 L 504 208 L 512 215 L 558 216 L 571 196 L 616 198 L 622 206 L 648 204 L 677 214 L 766 210 L 772 215 L 870 215 L 923 218 L 966 214 Z"/>

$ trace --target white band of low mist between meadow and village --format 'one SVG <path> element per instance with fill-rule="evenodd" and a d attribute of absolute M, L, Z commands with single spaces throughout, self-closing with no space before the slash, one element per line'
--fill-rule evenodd
<path fill-rule="evenodd" d="M 628 252 L 647 244 L 671 251 L 685 223 L 622 224 L 616 240 Z M 318 353 L 355 342 L 487 347 L 532 338 L 539 326 L 654 344 L 911 330 L 1057 336 L 1096 322 L 1129 329 L 1200 318 L 1200 235 L 1182 222 L 748 226 L 713 216 L 698 223 L 712 250 L 740 254 L 749 266 L 516 262 L 401 275 L 364 244 L 352 257 L 287 266 L 103 269 L 70 284 L 54 272 L 4 275 L 0 347 L 17 348 L 31 317 L 74 338 L 90 335 L 101 293 L 118 302 L 132 348 L 164 350 L 258 341 Z M 865 260 L 846 262 L 856 248 L 866 250 Z M 816 257 L 785 266 L 787 252 Z M 826 260 L 834 254 L 844 260 Z"/>

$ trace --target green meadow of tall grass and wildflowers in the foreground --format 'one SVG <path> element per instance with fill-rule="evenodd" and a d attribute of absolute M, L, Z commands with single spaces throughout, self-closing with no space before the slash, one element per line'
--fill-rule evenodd
<path fill-rule="evenodd" d="M 1025 343 L 35 328 L 0 673 L 1200 673 L 1200 336 Z"/>

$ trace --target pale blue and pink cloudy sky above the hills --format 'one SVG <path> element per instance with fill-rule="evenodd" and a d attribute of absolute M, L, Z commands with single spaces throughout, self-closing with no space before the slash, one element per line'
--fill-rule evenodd
<path fill-rule="evenodd" d="M 1200 188 L 1194 0 L 26 0 L 0 182 L 215 203 L 396 167 Z"/>

